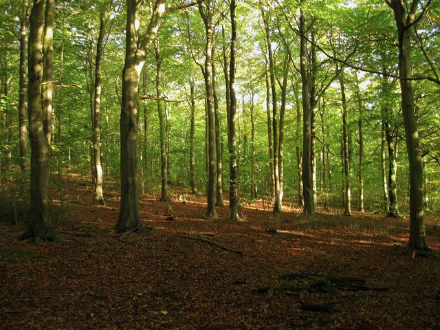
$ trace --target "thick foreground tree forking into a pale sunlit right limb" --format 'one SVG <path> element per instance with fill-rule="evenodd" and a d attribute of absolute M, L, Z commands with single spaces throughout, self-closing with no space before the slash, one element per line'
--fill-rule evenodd
<path fill-rule="evenodd" d="M 148 47 L 153 42 L 166 0 L 156 0 L 148 28 L 140 36 L 140 9 L 144 1 L 126 0 L 126 47 L 122 72 L 122 104 L 120 116 L 121 202 L 115 231 L 126 232 L 142 227 L 137 183 L 137 111 L 140 73 Z"/>

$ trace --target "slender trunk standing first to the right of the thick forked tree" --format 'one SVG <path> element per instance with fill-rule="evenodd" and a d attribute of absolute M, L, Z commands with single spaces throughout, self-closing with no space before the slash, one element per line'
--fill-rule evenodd
<path fill-rule="evenodd" d="M 156 72 L 156 93 L 157 93 L 157 114 L 159 115 L 160 129 L 160 177 L 161 197 L 160 201 L 168 201 L 168 153 L 166 151 L 166 127 L 164 118 L 164 100 L 162 100 L 162 57 L 159 52 L 159 41 L 156 39 L 155 56 L 157 64 Z"/>

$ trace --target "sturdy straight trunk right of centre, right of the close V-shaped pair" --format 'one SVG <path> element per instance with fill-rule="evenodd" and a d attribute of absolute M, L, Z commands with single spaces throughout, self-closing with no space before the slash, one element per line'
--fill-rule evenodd
<path fill-rule="evenodd" d="M 304 0 L 300 1 L 301 3 Z M 303 197 L 305 214 L 315 214 L 313 199 L 313 181 L 311 173 L 311 107 L 309 91 L 309 74 L 307 72 L 307 39 L 305 17 L 300 10 L 300 71 L 303 85 Z"/>

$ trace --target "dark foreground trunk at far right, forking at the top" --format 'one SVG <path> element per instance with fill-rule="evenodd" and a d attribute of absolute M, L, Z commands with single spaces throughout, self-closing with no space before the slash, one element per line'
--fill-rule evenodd
<path fill-rule="evenodd" d="M 412 249 L 428 250 L 423 217 L 423 164 L 414 111 L 412 83 L 407 79 L 411 77 L 411 29 L 415 23 L 419 1 L 413 0 L 410 7 L 406 8 L 399 0 L 391 0 L 390 4 L 397 25 L 401 107 L 410 166 L 410 237 L 408 245 Z M 408 13 L 406 13 L 407 8 Z"/>

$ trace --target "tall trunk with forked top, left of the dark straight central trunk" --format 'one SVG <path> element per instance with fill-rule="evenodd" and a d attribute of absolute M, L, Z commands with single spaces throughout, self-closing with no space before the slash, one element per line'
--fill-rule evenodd
<path fill-rule="evenodd" d="M 216 148 L 215 148 L 215 109 L 214 109 L 214 93 L 212 91 L 212 42 L 214 36 L 214 23 L 212 22 L 212 1 L 199 3 L 199 13 L 205 23 L 206 47 L 205 47 L 205 87 L 206 102 L 208 106 L 208 187 L 207 199 L 208 208 L 206 217 L 217 217 L 215 210 L 215 192 L 216 192 Z"/>

